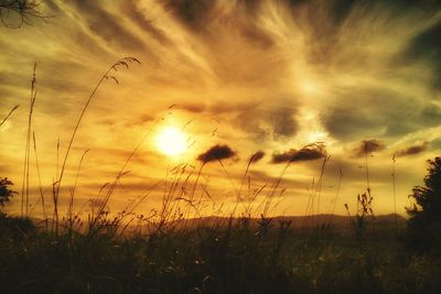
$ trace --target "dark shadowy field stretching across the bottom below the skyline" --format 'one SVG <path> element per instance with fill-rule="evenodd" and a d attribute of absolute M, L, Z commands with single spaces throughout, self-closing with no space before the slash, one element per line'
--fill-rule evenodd
<path fill-rule="evenodd" d="M 440 293 L 440 260 L 409 251 L 388 219 L 359 239 L 289 219 L 193 219 L 123 235 L 103 219 L 56 235 L 2 216 L 2 293 Z"/>

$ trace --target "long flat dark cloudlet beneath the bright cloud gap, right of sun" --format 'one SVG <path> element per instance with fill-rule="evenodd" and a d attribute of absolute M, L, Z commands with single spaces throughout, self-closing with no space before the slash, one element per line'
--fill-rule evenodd
<path fill-rule="evenodd" d="M 301 150 L 290 149 L 282 153 L 273 153 L 271 163 L 314 161 L 326 156 L 324 144 L 314 143 L 302 148 Z"/>

